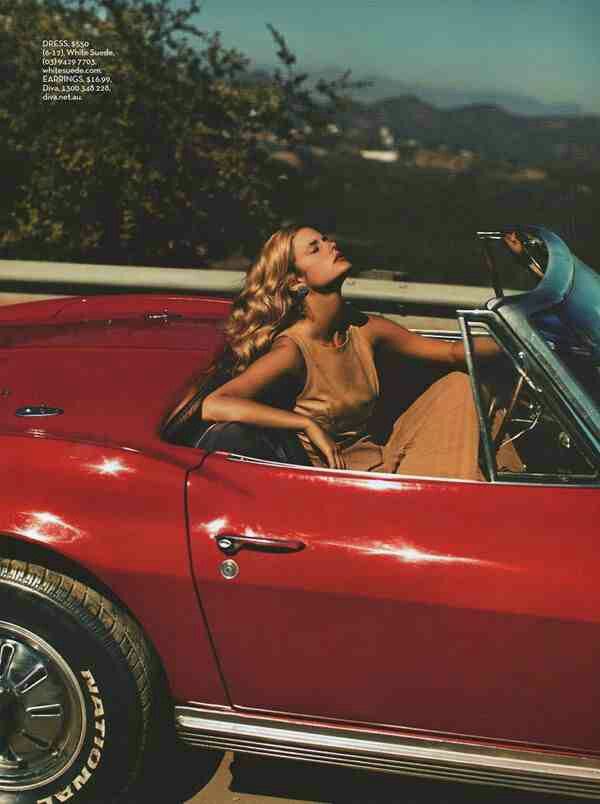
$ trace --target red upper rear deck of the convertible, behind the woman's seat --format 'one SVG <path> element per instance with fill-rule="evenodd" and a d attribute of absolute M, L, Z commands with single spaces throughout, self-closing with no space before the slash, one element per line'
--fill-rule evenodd
<path fill-rule="evenodd" d="M 0 310 L 0 431 L 35 429 L 181 459 L 160 439 L 160 422 L 221 348 L 228 308 L 213 299 L 141 296 Z M 41 404 L 64 413 L 15 415 Z"/>

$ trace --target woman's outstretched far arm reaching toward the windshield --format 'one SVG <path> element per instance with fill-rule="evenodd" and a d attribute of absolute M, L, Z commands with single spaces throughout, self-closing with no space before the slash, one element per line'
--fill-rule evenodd
<path fill-rule="evenodd" d="M 369 316 L 369 327 L 373 338 L 373 346 L 384 346 L 405 357 L 415 357 L 434 363 L 466 367 L 465 348 L 462 341 L 444 341 L 437 338 L 426 338 L 416 332 L 410 332 L 381 316 Z M 502 353 L 492 338 L 476 338 L 475 354 L 478 357 L 496 357 Z"/>

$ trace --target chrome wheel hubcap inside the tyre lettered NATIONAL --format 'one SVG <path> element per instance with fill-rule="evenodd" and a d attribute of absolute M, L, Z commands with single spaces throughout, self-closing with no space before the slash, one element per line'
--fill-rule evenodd
<path fill-rule="evenodd" d="M 62 656 L 0 621 L 0 790 L 30 790 L 64 773 L 81 750 L 85 702 Z"/>

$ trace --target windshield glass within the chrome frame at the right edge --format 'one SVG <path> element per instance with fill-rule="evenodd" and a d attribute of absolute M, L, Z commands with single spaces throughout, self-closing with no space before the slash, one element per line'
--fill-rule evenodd
<path fill-rule="evenodd" d="M 600 277 L 577 259 L 574 276 L 565 301 L 531 322 L 600 407 Z"/>

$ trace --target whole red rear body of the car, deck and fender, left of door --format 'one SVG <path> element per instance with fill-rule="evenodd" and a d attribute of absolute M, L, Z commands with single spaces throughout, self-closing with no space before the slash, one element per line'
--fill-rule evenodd
<path fill-rule="evenodd" d="M 159 429 L 213 359 L 228 308 L 145 295 L 0 310 L 0 534 L 95 575 L 149 634 L 177 699 L 212 703 L 226 698 L 184 515 L 186 471 L 203 453 L 165 443 Z M 40 404 L 64 413 L 15 415 Z"/>

